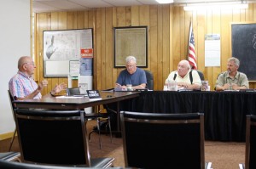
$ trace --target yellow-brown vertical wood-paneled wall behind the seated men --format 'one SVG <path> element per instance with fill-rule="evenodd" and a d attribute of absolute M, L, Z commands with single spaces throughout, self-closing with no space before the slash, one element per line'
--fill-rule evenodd
<path fill-rule="evenodd" d="M 193 22 L 195 53 L 198 69 L 203 71 L 211 88 L 218 73 L 226 70 L 231 56 L 230 23 L 256 22 L 256 3 L 248 9 L 208 10 L 185 12 L 172 5 L 145 5 L 131 7 L 95 8 L 90 11 L 52 12 L 36 14 L 35 61 L 38 65 L 36 80 L 44 79 L 43 31 L 93 28 L 94 30 L 94 87 L 113 87 L 120 68 L 113 68 L 113 27 L 148 26 L 148 68 L 154 73 L 154 90 L 162 90 L 166 77 L 177 69 L 181 59 L 187 59 L 189 23 Z M 220 67 L 205 67 L 204 36 L 217 33 L 221 37 Z M 124 60 L 125 62 L 125 60 Z M 242 60 L 241 60 L 242 62 Z M 255 72 L 256 73 L 256 72 Z M 48 93 L 56 83 L 67 78 L 47 78 Z M 73 86 L 77 82 L 73 82 Z M 250 87 L 256 88 L 254 83 Z"/>

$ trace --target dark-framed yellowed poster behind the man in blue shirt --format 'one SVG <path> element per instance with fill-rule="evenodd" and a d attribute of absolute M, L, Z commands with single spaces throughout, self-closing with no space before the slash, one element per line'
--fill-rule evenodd
<path fill-rule="evenodd" d="M 134 56 L 137 67 L 148 67 L 148 27 L 130 26 L 113 28 L 114 67 L 125 67 L 125 58 Z"/>

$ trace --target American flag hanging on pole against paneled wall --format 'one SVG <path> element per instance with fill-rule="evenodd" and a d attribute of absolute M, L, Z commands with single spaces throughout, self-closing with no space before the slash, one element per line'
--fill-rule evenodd
<path fill-rule="evenodd" d="M 197 70 L 196 57 L 195 57 L 195 38 L 193 33 L 192 22 L 189 28 L 189 54 L 188 54 L 189 64 L 192 69 Z"/>

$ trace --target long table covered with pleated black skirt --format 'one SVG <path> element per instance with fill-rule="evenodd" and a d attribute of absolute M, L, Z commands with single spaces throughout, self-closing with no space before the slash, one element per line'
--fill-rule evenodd
<path fill-rule="evenodd" d="M 245 141 L 246 115 L 256 115 L 254 92 L 169 92 L 140 93 L 125 101 L 121 110 L 154 113 L 192 113 L 205 115 L 205 138 L 217 141 Z"/>

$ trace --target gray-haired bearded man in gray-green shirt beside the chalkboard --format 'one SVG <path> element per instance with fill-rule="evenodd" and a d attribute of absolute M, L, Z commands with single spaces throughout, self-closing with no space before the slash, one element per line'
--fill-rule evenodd
<path fill-rule="evenodd" d="M 239 59 L 232 57 L 228 59 L 227 71 L 219 74 L 215 90 L 240 90 L 249 88 L 247 76 L 238 71 Z"/>

